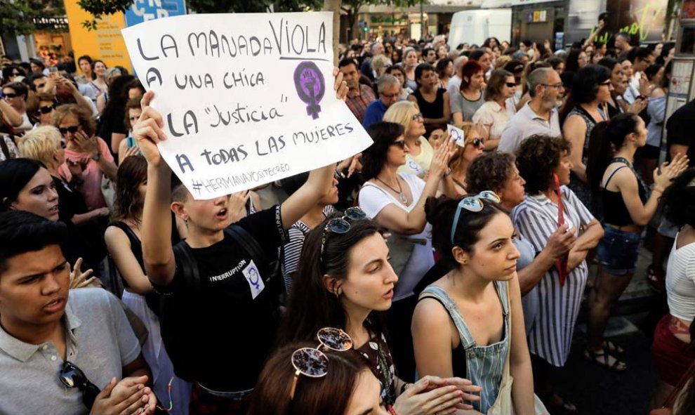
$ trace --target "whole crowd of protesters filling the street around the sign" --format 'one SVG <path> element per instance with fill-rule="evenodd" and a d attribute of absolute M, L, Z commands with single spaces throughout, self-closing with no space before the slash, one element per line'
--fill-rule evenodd
<path fill-rule="evenodd" d="M 352 41 L 373 144 L 211 200 L 125 68 L 5 61 L 0 414 L 580 414 L 550 371 L 583 303 L 630 370 L 604 332 L 649 223 L 651 405 L 695 413 L 695 101 L 666 118 L 672 44 L 594 39 Z"/>

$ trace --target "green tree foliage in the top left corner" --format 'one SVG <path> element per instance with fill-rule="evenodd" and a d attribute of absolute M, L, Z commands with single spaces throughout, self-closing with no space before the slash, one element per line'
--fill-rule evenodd
<path fill-rule="evenodd" d="M 34 18 L 65 15 L 62 0 L 0 0 L 0 33 L 30 34 Z"/>

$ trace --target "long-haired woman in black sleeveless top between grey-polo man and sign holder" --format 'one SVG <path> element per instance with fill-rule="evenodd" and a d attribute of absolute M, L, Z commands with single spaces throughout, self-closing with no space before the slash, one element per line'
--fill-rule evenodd
<path fill-rule="evenodd" d="M 140 317 L 150 334 L 143 345 L 143 356 L 152 369 L 154 393 L 165 399 L 169 395 L 168 383 L 173 378 L 170 396 L 176 404 L 170 413 L 187 414 L 191 385 L 173 373 L 173 365 L 159 331 L 159 318 L 156 314 L 159 312 L 159 296 L 145 275 L 143 246 L 140 242 L 140 225 L 147 192 L 145 157 L 131 156 L 125 159 L 119 166 L 117 183 L 113 221 L 104 235 L 112 259 L 110 265 L 116 268 L 121 276 L 124 304 Z M 173 213 L 171 221 L 171 243 L 176 244 L 185 237 L 186 228 L 183 222 L 176 220 Z"/>

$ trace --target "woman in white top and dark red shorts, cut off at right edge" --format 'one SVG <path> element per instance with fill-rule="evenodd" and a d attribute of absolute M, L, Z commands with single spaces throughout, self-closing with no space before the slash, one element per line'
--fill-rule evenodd
<path fill-rule="evenodd" d="M 651 345 L 651 358 L 659 377 L 654 395 L 655 407 L 661 407 L 695 361 L 694 350 L 689 347 L 695 339 L 691 330 L 695 320 L 695 169 L 688 169 L 675 179 L 664 192 L 663 199 L 666 218 L 680 230 L 666 267 L 668 314 L 658 322 Z M 683 404 L 693 409 L 695 392 L 692 385 L 688 396 Z"/>

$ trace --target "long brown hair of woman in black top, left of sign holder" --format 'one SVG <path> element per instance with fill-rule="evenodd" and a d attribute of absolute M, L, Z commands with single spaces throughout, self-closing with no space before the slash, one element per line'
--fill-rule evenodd
<path fill-rule="evenodd" d="M 138 187 L 147 180 L 147 161 L 143 156 L 127 157 L 116 173 L 116 199 L 112 220 L 130 219 L 140 223 L 142 202 L 138 202 Z"/>

